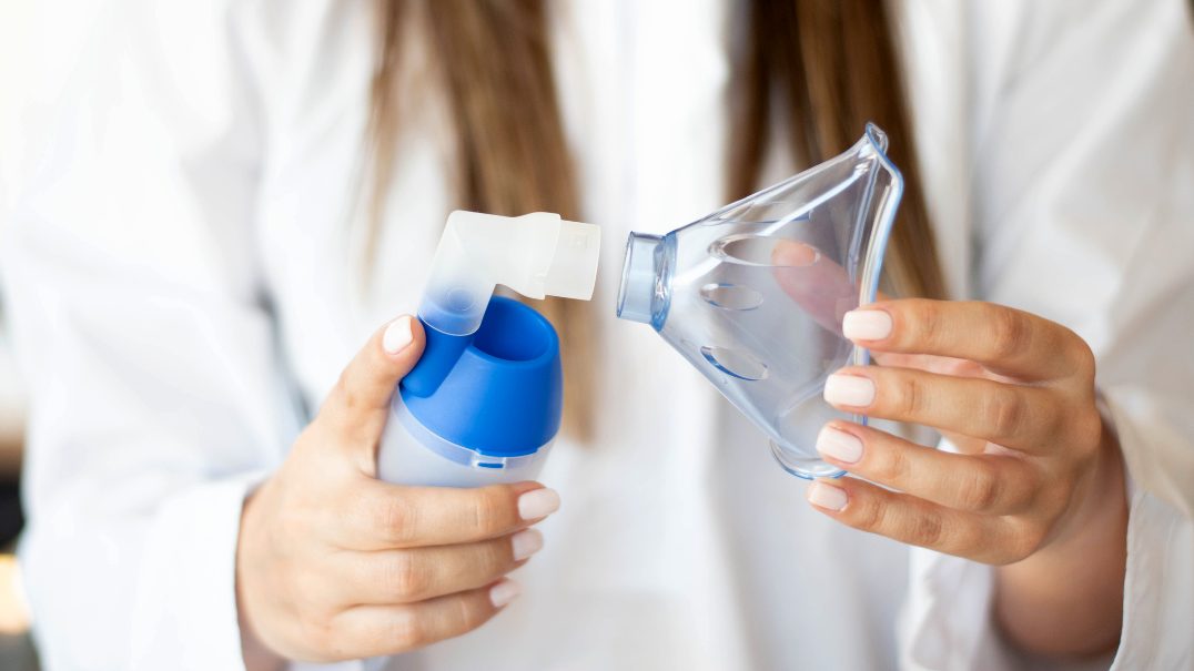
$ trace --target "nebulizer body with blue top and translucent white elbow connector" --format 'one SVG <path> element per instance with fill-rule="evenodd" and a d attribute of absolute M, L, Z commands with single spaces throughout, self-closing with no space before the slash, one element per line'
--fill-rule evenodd
<path fill-rule="evenodd" d="M 493 290 L 589 300 L 599 248 L 598 227 L 559 215 L 451 214 L 419 302 L 426 347 L 394 390 L 378 478 L 479 487 L 538 476 L 564 408 L 560 341 Z"/>

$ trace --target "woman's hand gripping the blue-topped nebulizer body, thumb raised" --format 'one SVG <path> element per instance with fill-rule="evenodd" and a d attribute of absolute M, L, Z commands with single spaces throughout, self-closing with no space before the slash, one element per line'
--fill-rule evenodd
<path fill-rule="evenodd" d="M 423 353 L 418 320 L 377 331 L 285 462 L 245 501 L 236 597 L 250 670 L 412 651 L 475 629 L 518 596 L 503 578 L 543 544 L 560 498 L 375 479 L 390 394 Z"/>

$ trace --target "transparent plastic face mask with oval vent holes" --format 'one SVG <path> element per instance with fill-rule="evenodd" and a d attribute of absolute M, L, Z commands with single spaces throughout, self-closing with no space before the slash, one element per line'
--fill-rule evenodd
<path fill-rule="evenodd" d="M 825 378 L 868 352 L 843 315 L 875 300 L 904 190 L 879 128 L 849 152 L 667 235 L 632 233 L 617 314 L 652 325 L 770 437 L 801 478 L 842 472 L 817 453 Z"/>

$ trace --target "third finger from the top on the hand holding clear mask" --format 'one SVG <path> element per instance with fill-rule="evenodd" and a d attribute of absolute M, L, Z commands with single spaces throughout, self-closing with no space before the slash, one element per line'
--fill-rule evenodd
<path fill-rule="evenodd" d="M 958 455 L 844 420 L 817 436 L 825 461 L 900 492 L 979 515 L 1016 515 L 1036 499 L 1040 476 L 1014 454 Z"/>

